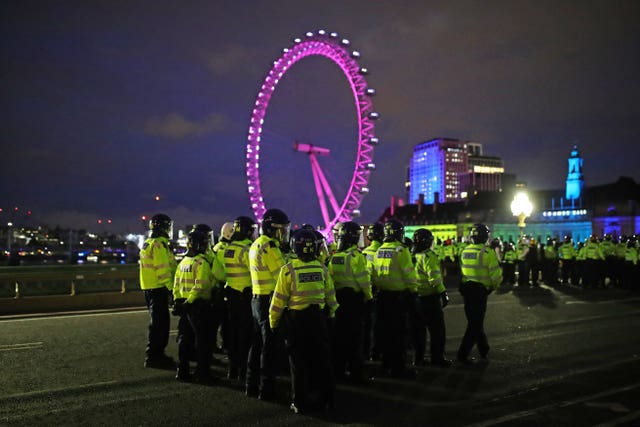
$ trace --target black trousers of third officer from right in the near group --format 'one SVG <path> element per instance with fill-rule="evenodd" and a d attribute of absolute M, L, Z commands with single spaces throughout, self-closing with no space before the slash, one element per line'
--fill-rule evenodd
<path fill-rule="evenodd" d="M 407 298 L 402 291 L 378 293 L 378 318 L 382 369 L 391 374 L 405 370 L 406 336 L 408 325 Z M 376 343 L 377 344 L 377 343 Z"/>

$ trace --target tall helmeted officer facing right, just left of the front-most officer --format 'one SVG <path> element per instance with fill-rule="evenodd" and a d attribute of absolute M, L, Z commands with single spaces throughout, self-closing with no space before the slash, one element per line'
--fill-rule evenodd
<path fill-rule="evenodd" d="M 269 305 L 280 268 L 285 264 L 280 245 L 289 240 L 290 227 L 289 218 L 283 211 L 268 209 L 262 217 L 261 234 L 249 249 L 253 338 L 247 360 L 245 393 L 261 400 L 275 398 L 277 346 L 269 327 Z"/>

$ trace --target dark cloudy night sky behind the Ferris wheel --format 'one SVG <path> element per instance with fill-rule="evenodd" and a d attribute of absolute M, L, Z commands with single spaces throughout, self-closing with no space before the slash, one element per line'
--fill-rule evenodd
<path fill-rule="evenodd" d="M 257 91 L 319 29 L 351 41 L 377 90 L 362 222 L 404 197 L 413 145 L 435 137 L 482 143 L 532 189 L 564 187 L 573 144 L 587 186 L 640 182 L 639 1 L 3 1 L 0 220 L 139 232 L 158 211 L 216 230 L 251 215 Z M 267 207 L 320 223 L 295 140 L 332 150 L 319 160 L 343 198 L 355 107 L 324 57 L 278 85 L 260 159 Z"/>

